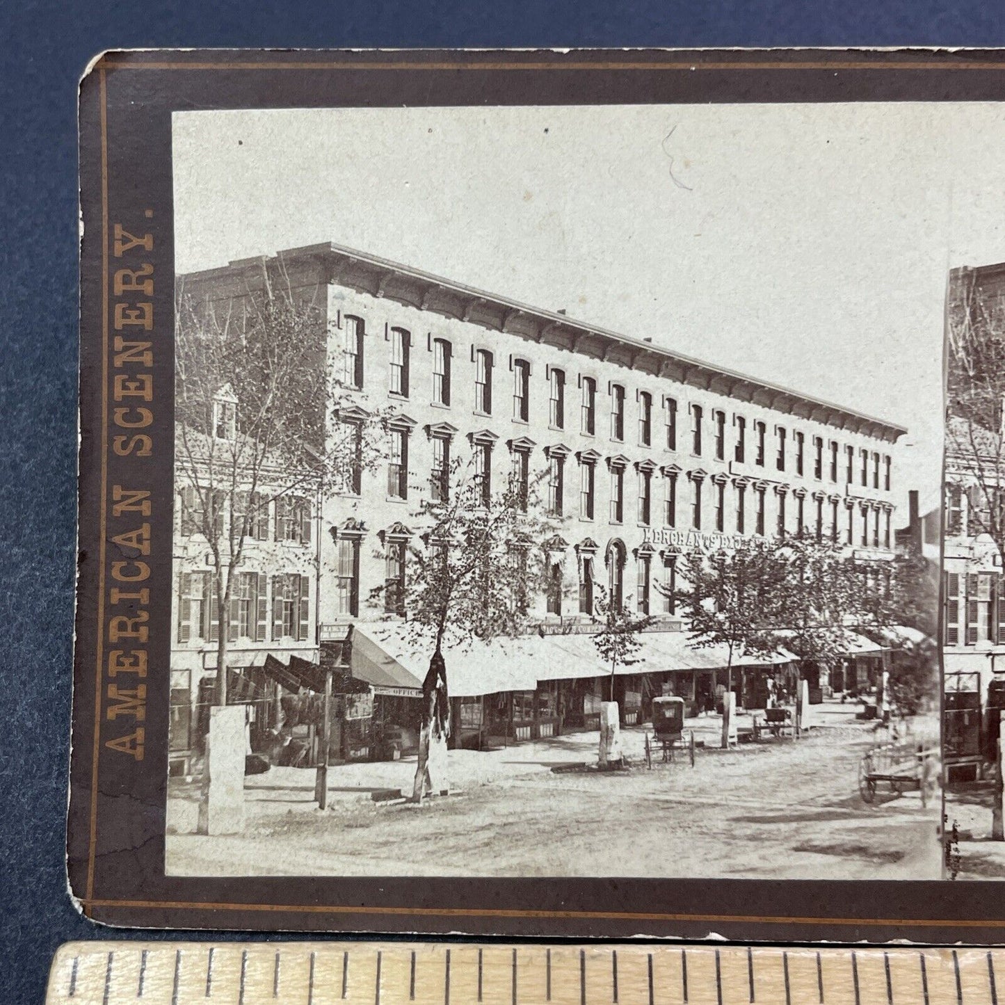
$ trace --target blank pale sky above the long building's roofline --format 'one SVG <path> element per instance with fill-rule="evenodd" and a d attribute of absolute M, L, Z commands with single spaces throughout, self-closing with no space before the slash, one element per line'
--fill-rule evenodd
<path fill-rule="evenodd" d="M 564 308 L 907 426 L 898 501 L 939 505 L 947 271 L 1005 260 L 1005 106 L 184 112 L 173 144 L 179 272 L 334 241 Z"/>

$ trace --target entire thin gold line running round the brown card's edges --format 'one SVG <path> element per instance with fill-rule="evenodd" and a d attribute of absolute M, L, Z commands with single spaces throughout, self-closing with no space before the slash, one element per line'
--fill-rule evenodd
<path fill-rule="evenodd" d="M 94 737 L 93 765 L 91 770 L 90 796 L 90 843 L 87 856 L 87 892 L 81 901 L 84 910 L 90 908 L 152 908 L 163 910 L 201 910 L 201 911 L 248 911 L 271 914 L 329 914 L 329 915 L 376 915 L 376 916 L 418 916 L 418 917 L 448 917 L 448 918 L 527 918 L 527 919 L 592 919 L 598 921 L 650 921 L 650 922 L 692 922 L 692 923 L 754 923 L 762 925 L 836 925 L 836 926 L 917 926 L 920 928 L 1001 928 L 1005 927 L 1005 919 L 974 921 L 974 920 L 936 920 L 936 919 L 864 919 L 864 918 L 783 918 L 777 916 L 756 915 L 678 915 L 646 912 L 604 912 L 604 911 L 544 911 L 544 910 L 491 910 L 464 908 L 384 908 L 367 906 L 332 906 L 321 904 L 265 904 L 265 903 L 233 903 L 233 902 L 195 902 L 186 900 L 122 900 L 99 899 L 93 897 L 94 859 L 96 852 L 97 833 L 97 777 L 98 756 L 100 753 L 100 710 L 102 710 L 102 660 L 104 657 L 104 594 L 105 594 L 105 523 L 107 519 L 107 480 L 108 480 L 108 327 L 109 327 L 109 178 L 108 178 L 108 92 L 106 72 L 112 69 L 153 69 L 153 70 L 811 70 L 811 69 L 871 69 L 871 70 L 962 70 L 962 69 L 994 69 L 1005 70 L 1005 59 L 1002 61 L 978 62 L 871 62 L 858 61 L 800 61 L 800 62 L 116 62 L 102 57 L 96 65 L 100 86 L 100 129 L 102 129 L 102 498 L 100 498 L 100 533 L 98 541 L 98 631 L 97 658 L 95 668 L 94 694 Z M 317 878 L 317 877 L 316 877 Z M 906 880 L 910 881 L 910 880 Z M 945 880 L 942 880 L 945 881 Z"/>

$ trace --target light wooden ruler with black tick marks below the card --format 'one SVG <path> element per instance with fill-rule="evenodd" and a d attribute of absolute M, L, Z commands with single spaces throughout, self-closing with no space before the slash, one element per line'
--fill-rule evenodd
<path fill-rule="evenodd" d="M 1001 992 L 999 992 L 1001 984 Z M 1005 950 L 68 943 L 47 1005 L 1005 1005 Z"/>

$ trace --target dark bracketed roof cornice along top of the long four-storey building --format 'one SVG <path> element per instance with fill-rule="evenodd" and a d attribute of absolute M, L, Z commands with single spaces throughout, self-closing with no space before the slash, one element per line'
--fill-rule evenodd
<path fill-rule="evenodd" d="M 891 443 L 908 431 L 895 423 L 801 394 L 792 388 L 655 346 L 648 339 L 636 339 L 575 321 L 558 312 L 531 307 L 339 244 L 311 244 L 279 251 L 271 257 L 232 261 L 218 268 L 179 276 L 179 281 L 198 282 L 227 275 L 236 277 L 241 273 L 251 278 L 270 267 L 288 271 L 301 263 L 319 268 L 325 282 L 355 288 L 372 296 L 396 300 L 416 310 L 431 311 L 445 318 L 480 325 L 531 342 L 554 345 L 654 377 L 752 401 L 798 418 L 819 421 Z"/>

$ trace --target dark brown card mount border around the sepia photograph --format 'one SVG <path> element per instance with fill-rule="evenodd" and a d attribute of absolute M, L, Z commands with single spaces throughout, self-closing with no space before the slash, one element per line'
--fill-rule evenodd
<path fill-rule="evenodd" d="M 1005 53 L 976 50 L 207 50 L 117 52 L 96 60 L 80 91 L 81 519 L 68 832 L 70 884 L 84 912 L 110 924 L 145 927 L 445 933 L 460 925 L 469 934 L 537 937 L 694 938 L 718 932 L 740 940 L 1000 941 L 1005 916 L 979 882 L 221 879 L 167 877 L 163 863 L 173 471 L 172 111 L 1000 100 L 1003 70 Z M 109 424 L 116 224 L 152 238 L 143 258 L 153 265 L 155 280 L 154 330 L 144 336 L 154 342 L 148 368 L 153 420 L 143 430 L 154 449 L 147 458 L 110 451 L 110 436 L 130 432 Z M 91 236 L 98 233 L 99 245 Z M 152 506 L 150 554 L 144 558 L 155 598 L 144 607 L 148 693 L 143 722 L 129 723 L 129 729 L 118 717 L 110 721 L 107 696 L 106 588 L 114 558 L 109 541 L 133 529 L 109 525 L 113 484 L 150 491 Z M 117 613 L 123 610 L 140 613 L 117 607 Z M 135 735 L 136 728 L 144 731 L 142 761 L 107 747 L 110 739 Z"/>

